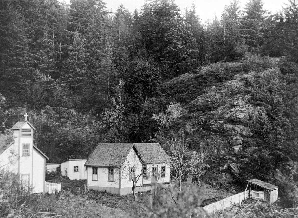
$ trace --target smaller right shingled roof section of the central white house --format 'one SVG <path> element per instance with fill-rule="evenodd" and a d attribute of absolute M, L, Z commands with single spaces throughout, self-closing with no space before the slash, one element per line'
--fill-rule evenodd
<path fill-rule="evenodd" d="M 171 163 L 159 143 L 134 143 L 144 163 Z"/>

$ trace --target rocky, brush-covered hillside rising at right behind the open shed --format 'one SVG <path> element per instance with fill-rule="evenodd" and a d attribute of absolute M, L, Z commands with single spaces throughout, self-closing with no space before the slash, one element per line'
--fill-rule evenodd
<path fill-rule="evenodd" d="M 287 57 L 247 55 L 164 83 L 186 110 L 176 131 L 194 150 L 208 151 L 205 181 L 297 185 L 297 73 Z"/>

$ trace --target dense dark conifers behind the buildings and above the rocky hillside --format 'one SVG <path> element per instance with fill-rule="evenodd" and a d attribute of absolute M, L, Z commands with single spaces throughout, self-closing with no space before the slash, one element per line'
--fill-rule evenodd
<path fill-rule="evenodd" d="M 153 140 L 151 117 L 174 98 L 164 81 L 247 52 L 297 61 L 297 7 L 290 0 L 272 15 L 261 0 L 243 11 L 234 0 L 202 23 L 194 5 L 182 15 L 168 0 L 114 15 L 101 0 L 3 0 L 1 130 L 27 108 L 35 143 L 54 162 L 86 157 L 98 141 Z"/>

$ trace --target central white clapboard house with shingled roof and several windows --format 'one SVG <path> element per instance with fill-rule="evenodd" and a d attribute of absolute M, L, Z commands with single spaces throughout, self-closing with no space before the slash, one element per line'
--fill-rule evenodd
<path fill-rule="evenodd" d="M 147 191 L 170 182 L 170 163 L 159 143 L 100 143 L 85 163 L 87 186 L 122 195 L 132 193 L 135 180 L 135 192 Z"/>

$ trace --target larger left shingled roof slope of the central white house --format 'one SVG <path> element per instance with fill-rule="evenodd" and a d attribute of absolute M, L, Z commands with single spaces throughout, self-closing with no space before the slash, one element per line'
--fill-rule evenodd
<path fill-rule="evenodd" d="M 120 166 L 134 143 L 99 143 L 85 166 Z"/>

